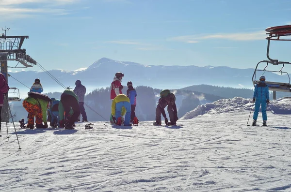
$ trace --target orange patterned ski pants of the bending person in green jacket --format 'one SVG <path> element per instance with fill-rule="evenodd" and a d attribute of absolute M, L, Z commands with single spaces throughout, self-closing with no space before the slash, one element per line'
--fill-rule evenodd
<path fill-rule="evenodd" d="M 28 123 L 27 125 L 34 125 L 34 116 L 35 116 L 35 124 L 42 124 L 42 111 L 41 108 L 37 104 L 32 104 L 27 101 L 23 101 L 22 103 L 25 110 L 28 112 Z"/>

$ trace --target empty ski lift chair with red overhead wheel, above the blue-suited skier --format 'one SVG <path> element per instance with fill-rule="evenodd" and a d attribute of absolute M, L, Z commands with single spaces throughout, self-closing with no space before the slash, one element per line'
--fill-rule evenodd
<path fill-rule="evenodd" d="M 284 68 L 285 64 L 291 64 L 290 62 L 286 61 L 278 61 L 277 59 L 271 59 L 269 56 L 269 50 L 270 50 L 270 42 L 273 41 L 291 41 L 291 39 L 284 38 L 286 36 L 291 36 L 291 25 L 284 25 L 284 26 L 276 26 L 276 27 L 270 27 L 266 29 L 267 34 L 269 35 L 266 37 L 268 40 L 268 45 L 267 45 L 267 58 L 269 60 L 262 60 L 259 61 L 259 63 L 256 66 L 255 72 L 253 74 L 253 84 L 256 86 L 256 84 L 259 83 L 259 80 L 256 80 L 256 73 L 258 71 L 263 71 L 265 72 L 275 72 L 275 73 L 281 73 L 281 75 L 287 74 L 289 81 L 286 83 L 282 82 L 271 82 L 271 81 L 266 81 L 266 85 L 268 85 L 269 90 L 273 91 L 273 99 L 276 99 L 276 91 L 285 91 L 285 92 L 291 92 L 291 84 L 290 84 L 290 76 L 287 72 L 282 72 L 282 69 Z M 280 39 L 280 37 L 282 37 Z M 259 70 L 258 66 L 260 63 L 267 63 L 265 68 L 263 70 Z M 268 71 L 266 70 L 268 64 L 271 63 L 273 65 L 283 65 L 282 68 L 279 71 Z"/>

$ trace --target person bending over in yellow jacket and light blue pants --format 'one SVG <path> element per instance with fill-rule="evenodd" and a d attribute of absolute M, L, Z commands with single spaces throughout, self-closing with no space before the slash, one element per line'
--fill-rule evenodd
<path fill-rule="evenodd" d="M 124 110 L 125 109 L 125 110 Z M 124 118 L 124 126 L 130 126 L 129 120 L 130 120 L 130 113 L 131 113 L 131 108 L 130 108 L 130 103 L 129 103 L 129 98 L 125 94 L 119 94 L 117 95 L 112 102 L 111 105 L 111 115 L 113 118 L 113 121 L 116 121 L 116 125 L 121 125 L 121 117 L 125 114 Z"/>

